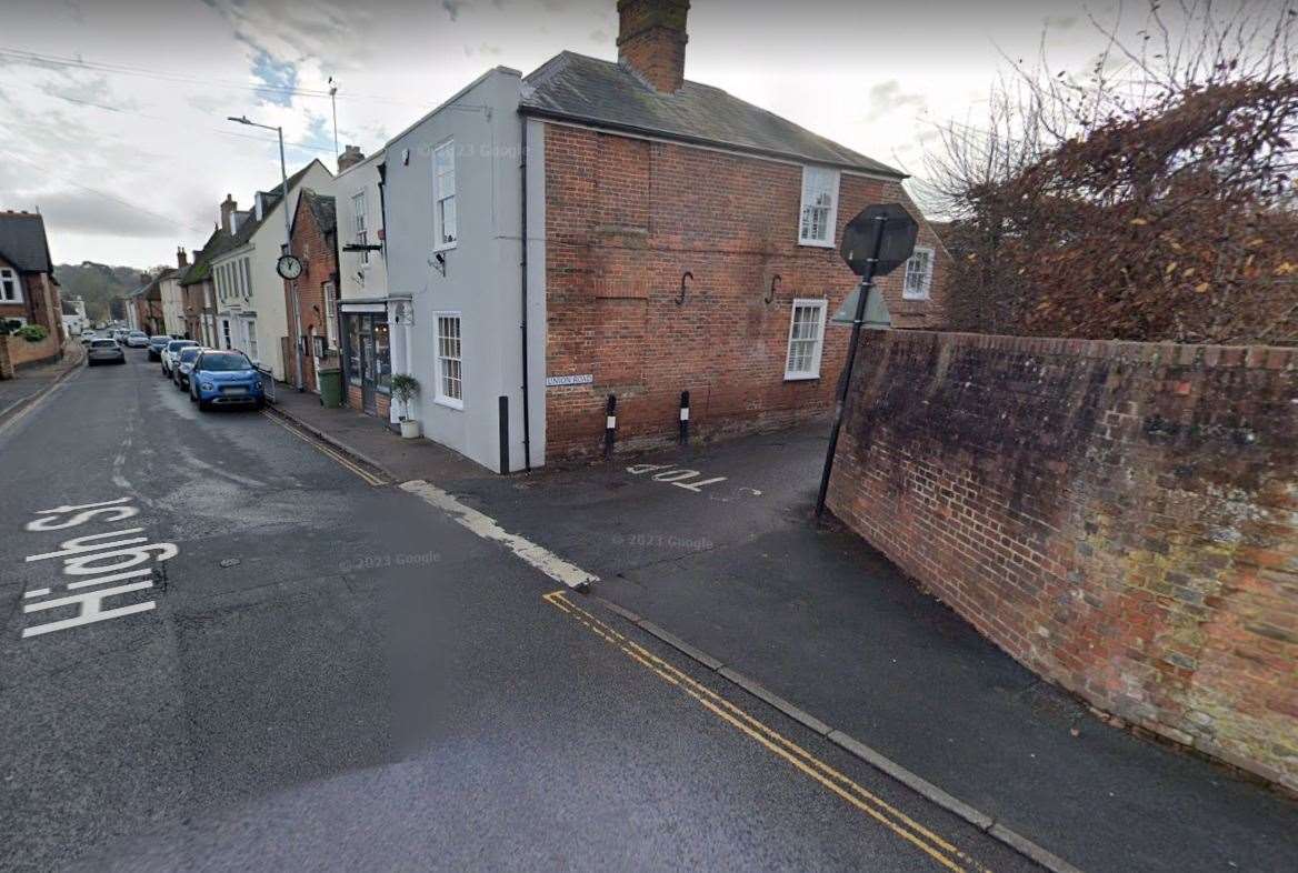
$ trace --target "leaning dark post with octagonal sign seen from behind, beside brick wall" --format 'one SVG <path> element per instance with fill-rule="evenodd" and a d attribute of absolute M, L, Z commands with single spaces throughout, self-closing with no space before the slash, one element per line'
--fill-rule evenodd
<path fill-rule="evenodd" d="M 866 304 L 875 289 L 875 278 L 885 276 L 910 258 L 915 250 L 915 237 L 919 224 L 900 204 L 866 206 L 855 218 L 848 222 L 842 231 L 840 254 L 851 271 L 861 276 L 855 292 L 855 311 L 851 318 L 851 340 L 848 342 L 848 361 L 839 379 L 839 400 L 833 409 L 833 428 L 829 431 L 829 448 L 824 455 L 824 471 L 820 473 L 820 490 L 815 498 L 816 521 L 824 515 L 824 499 L 829 492 L 829 473 L 833 471 L 833 454 L 839 448 L 839 432 L 842 429 L 842 410 L 848 402 L 851 387 L 851 370 L 857 363 L 857 346 L 861 344 L 861 328 L 866 322 Z M 849 297 L 850 301 L 850 297 Z M 879 296 L 876 305 L 883 305 Z M 846 307 L 846 306 L 845 306 Z M 884 318 L 887 307 L 884 306 Z M 835 320 L 839 320 L 837 318 Z"/>

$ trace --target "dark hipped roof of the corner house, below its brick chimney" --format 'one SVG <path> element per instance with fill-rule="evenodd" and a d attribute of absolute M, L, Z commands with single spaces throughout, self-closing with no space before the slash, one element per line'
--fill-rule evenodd
<path fill-rule="evenodd" d="M 528 114 L 898 179 L 906 175 L 720 88 L 685 82 L 676 93 L 659 93 L 628 67 L 585 54 L 556 54 L 523 84 L 522 112 Z"/>

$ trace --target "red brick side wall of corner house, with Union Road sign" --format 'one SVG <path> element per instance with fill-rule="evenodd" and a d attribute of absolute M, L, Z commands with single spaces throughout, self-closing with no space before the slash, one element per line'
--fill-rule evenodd
<path fill-rule="evenodd" d="M 546 374 L 594 376 L 546 389 L 548 460 L 601 450 L 610 393 L 619 449 L 674 440 L 681 390 L 705 438 L 832 409 L 845 328 L 827 326 L 820 379 L 784 380 L 793 298 L 826 297 L 833 315 L 857 283 L 836 249 L 797 244 L 800 166 L 545 130 Z M 840 200 L 836 241 L 867 204 L 910 202 L 896 182 L 846 174 Z M 935 244 L 927 226 L 920 241 Z M 932 302 L 903 302 L 900 271 L 883 281 L 894 323 L 941 324 L 942 266 L 940 254 Z M 685 271 L 693 281 L 678 305 Z"/>

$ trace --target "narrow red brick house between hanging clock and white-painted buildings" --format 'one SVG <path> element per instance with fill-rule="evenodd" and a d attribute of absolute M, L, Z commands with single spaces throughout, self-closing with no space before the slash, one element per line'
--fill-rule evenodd
<path fill-rule="evenodd" d="M 288 329 L 296 332 L 295 349 L 289 349 L 289 381 L 304 390 L 319 393 L 315 372 L 332 358 L 330 337 L 336 313 L 337 288 L 337 223 L 334 197 L 302 188 L 289 224 L 289 250 L 302 262 L 302 274 L 284 280 L 284 309 Z M 295 354 L 300 349 L 300 354 Z M 299 362 L 301 372 L 297 372 Z"/>

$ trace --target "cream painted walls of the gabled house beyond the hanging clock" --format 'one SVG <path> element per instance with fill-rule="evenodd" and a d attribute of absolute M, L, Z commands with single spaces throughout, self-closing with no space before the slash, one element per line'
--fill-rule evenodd
<path fill-rule="evenodd" d="M 328 189 L 332 185 L 334 174 L 319 161 L 313 161 L 310 169 L 301 182 L 288 189 L 288 214 L 292 217 L 297 208 L 297 197 L 302 188 Z M 235 346 L 251 354 L 248 348 L 248 313 L 256 313 L 254 329 L 257 336 L 257 358 L 263 367 L 269 367 L 275 379 L 284 379 L 287 372 L 282 353 L 280 339 L 289 336 L 288 307 L 284 304 L 284 280 L 275 271 L 275 262 L 279 261 L 280 249 L 287 243 L 284 235 L 284 204 L 276 202 L 266 214 L 266 219 L 253 233 L 247 245 L 223 253 L 213 258 L 213 275 L 221 265 L 234 263 L 241 258 L 249 258 L 249 271 L 252 284 L 249 294 L 241 300 L 222 301 L 217 297 L 218 324 L 221 318 L 234 322 L 231 337 Z M 219 281 L 218 281 L 219 288 Z"/>

